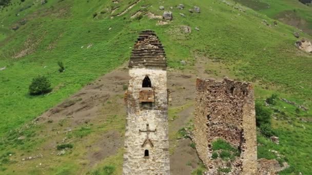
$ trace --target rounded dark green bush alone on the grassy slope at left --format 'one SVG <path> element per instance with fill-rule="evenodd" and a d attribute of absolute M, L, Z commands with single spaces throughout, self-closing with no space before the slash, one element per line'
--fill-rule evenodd
<path fill-rule="evenodd" d="M 42 95 L 51 91 L 51 83 L 45 76 L 33 78 L 31 84 L 29 85 L 30 95 Z"/>

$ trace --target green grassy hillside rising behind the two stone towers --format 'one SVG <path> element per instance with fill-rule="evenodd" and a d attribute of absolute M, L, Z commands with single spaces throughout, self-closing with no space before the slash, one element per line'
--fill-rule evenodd
<path fill-rule="evenodd" d="M 178 4 L 184 4 L 185 9 L 177 9 Z M 159 19 L 143 15 L 147 12 L 162 15 L 160 5 L 173 12 L 173 20 L 168 25 L 156 25 Z M 132 8 L 125 11 L 130 6 Z M 199 6 L 201 13 L 188 12 L 193 6 Z M 213 60 L 224 67 L 222 70 L 212 68 L 208 63 L 204 65 L 206 71 L 215 71 L 216 76 L 220 76 L 219 72 L 224 69 L 226 76 L 253 82 L 259 101 L 276 93 L 311 108 L 312 55 L 295 47 L 295 27 L 280 21 L 277 26 L 273 25 L 273 18 L 294 9 L 296 15 L 307 21 L 306 28 L 312 29 L 311 7 L 290 0 L 120 0 L 118 4 L 104 0 L 48 0 L 43 5 L 37 1 L 12 0 L 11 5 L 0 12 L 0 68 L 6 67 L 0 71 L 0 156 L 11 149 L 25 151 L 21 145 L 8 145 L 10 133 L 122 65 L 128 60 L 139 32 L 145 29 L 158 34 L 172 69 L 194 72 L 198 59 Z M 139 10 L 142 14 L 131 18 Z M 272 26 L 264 25 L 264 19 Z M 190 26 L 192 32 L 183 33 L 181 25 Z M 16 26 L 19 28 L 12 30 Z M 194 30 L 196 27 L 200 31 Z M 312 40 L 307 33 L 300 32 L 300 35 Z M 187 64 L 181 64 L 181 60 Z M 59 73 L 57 61 L 63 61 L 65 72 Z M 30 96 L 28 86 L 38 75 L 48 77 L 53 91 Z M 259 158 L 275 158 L 268 152 L 275 149 L 285 155 L 290 165 L 282 174 L 312 172 L 309 166 L 312 164 L 309 154 L 312 111 L 296 113 L 296 107 L 282 101 L 276 104 L 277 109 L 283 113 L 276 113 L 277 119 L 272 119 L 272 124 L 280 137 L 280 145 L 259 135 Z M 0 168 L 10 173 L 16 164 L 1 163 Z M 68 167 L 68 171 L 75 168 Z M 54 169 L 51 172 L 55 172 Z"/>

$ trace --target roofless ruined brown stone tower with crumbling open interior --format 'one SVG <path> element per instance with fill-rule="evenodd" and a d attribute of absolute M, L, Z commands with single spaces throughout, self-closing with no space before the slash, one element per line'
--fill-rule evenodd
<path fill-rule="evenodd" d="M 197 79 L 193 141 L 199 157 L 218 174 L 230 167 L 230 174 L 256 174 L 257 138 L 252 85 L 224 79 Z M 240 150 L 234 160 L 212 159 L 212 142 L 222 139 Z"/>

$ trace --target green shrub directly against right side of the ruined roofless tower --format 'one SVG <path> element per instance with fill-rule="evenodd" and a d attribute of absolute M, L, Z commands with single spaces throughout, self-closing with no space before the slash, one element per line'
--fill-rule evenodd
<path fill-rule="evenodd" d="M 268 108 L 265 108 L 261 103 L 256 103 L 256 124 L 261 126 L 262 124 L 271 123 L 271 111 Z"/>

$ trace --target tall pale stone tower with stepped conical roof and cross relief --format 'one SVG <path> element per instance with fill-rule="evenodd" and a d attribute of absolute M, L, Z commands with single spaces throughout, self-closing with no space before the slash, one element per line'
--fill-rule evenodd
<path fill-rule="evenodd" d="M 167 62 L 153 31 L 143 31 L 129 61 L 123 174 L 170 174 Z"/>

